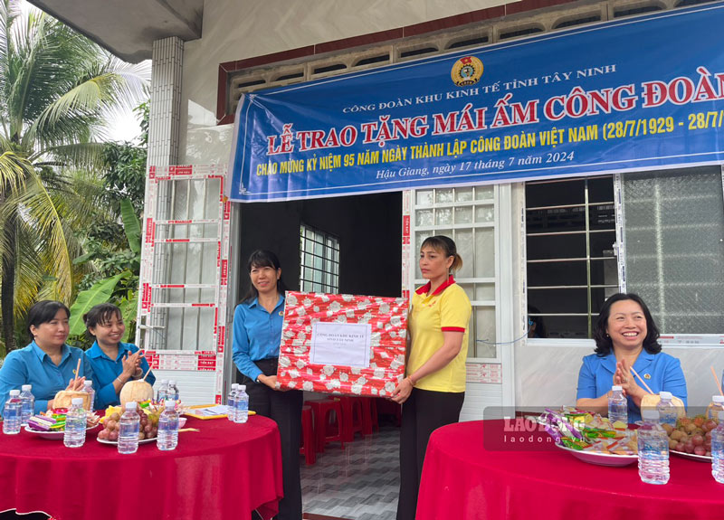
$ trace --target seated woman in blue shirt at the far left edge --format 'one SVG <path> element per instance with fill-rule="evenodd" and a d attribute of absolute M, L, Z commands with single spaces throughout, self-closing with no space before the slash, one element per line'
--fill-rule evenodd
<path fill-rule="evenodd" d="M 11 390 L 33 385 L 35 413 L 52 410 L 55 394 L 62 390 L 79 391 L 93 369 L 80 348 L 65 344 L 71 331 L 71 311 L 59 301 L 39 301 L 28 311 L 30 345 L 14 350 L 0 368 L 0 402 L 7 401 Z M 76 374 L 78 360 L 81 373 Z M 78 376 L 78 377 L 76 377 Z"/>

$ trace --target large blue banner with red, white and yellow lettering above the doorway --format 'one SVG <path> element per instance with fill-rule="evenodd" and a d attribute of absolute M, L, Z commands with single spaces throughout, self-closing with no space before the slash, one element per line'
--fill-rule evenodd
<path fill-rule="evenodd" d="M 229 196 L 720 163 L 722 27 L 717 3 L 246 94 Z"/>

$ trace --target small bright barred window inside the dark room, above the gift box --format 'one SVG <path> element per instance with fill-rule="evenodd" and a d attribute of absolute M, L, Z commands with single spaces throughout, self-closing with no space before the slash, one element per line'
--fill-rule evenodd
<path fill-rule="evenodd" d="M 300 288 L 339 291 L 339 239 L 306 224 L 300 225 Z"/>

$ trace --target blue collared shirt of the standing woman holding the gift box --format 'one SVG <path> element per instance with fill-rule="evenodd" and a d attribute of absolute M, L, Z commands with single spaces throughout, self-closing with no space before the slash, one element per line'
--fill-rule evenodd
<path fill-rule="evenodd" d="M 254 361 L 279 357 L 281 324 L 284 322 L 284 297 L 268 312 L 259 298 L 243 302 L 233 312 L 233 363 L 239 372 L 256 381 L 262 373 Z"/>

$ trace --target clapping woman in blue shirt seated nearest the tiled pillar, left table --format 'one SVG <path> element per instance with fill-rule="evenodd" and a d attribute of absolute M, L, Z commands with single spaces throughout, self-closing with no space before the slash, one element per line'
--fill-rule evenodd
<path fill-rule="evenodd" d="M 126 324 L 119 307 L 101 303 L 83 316 L 88 334 L 95 342 L 85 353 L 93 367 L 96 381 L 96 406 L 104 409 L 120 404 L 119 394 L 123 385 L 139 379 L 148 371 L 148 361 L 138 346 L 122 343 Z M 146 381 L 156 383 L 156 377 L 149 373 Z"/>

